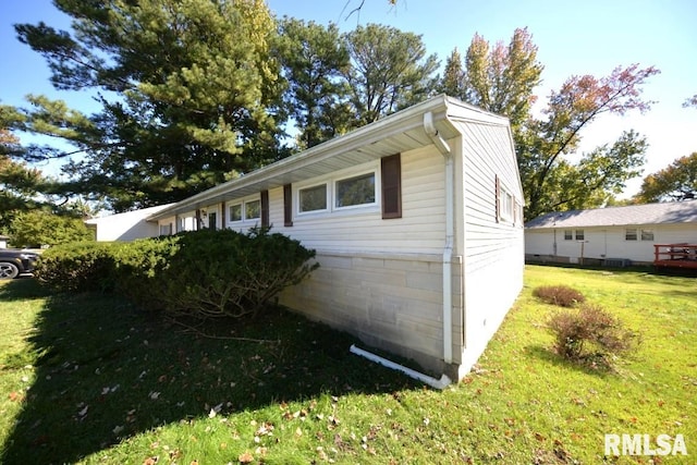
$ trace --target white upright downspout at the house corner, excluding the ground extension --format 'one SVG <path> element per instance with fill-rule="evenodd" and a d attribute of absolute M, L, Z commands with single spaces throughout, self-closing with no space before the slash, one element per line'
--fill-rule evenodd
<path fill-rule="evenodd" d="M 433 113 L 424 113 L 424 130 L 445 159 L 445 245 L 443 247 L 443 362 L 453 362 L 453 247 L 455 242 L 455 189 L 454 164 L 450 146 L 438 134 L 433 124 Z"/>

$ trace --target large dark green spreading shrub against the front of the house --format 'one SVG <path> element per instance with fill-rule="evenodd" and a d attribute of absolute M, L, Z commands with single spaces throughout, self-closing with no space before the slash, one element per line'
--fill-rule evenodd
<path fill-rule="evenodd" d="M 134 243 L 135 244 L 135 243 Z M 196 318 L 257 315 L 317 264 L 283 234 L 201 230 L 120 252 L 119 287 L 137 304 Z"/>

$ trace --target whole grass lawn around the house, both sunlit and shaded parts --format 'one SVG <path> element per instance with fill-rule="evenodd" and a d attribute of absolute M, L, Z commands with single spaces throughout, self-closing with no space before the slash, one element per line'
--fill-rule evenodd
<path fill-rule="evenodd" d="M 697 463 L 697 280 L 529 266 L 525 283 L 473 374 L 433 391 L 288 313 L 203 336 L 119 298 L 2 282 L 0 462 Z M 612 372 L 560 359 L 555 307 L 531 296 L 545 284 L 619 316 L 638 352 Z M 681 435 L 689 455 L 604 457 L 606 433 Z"/>

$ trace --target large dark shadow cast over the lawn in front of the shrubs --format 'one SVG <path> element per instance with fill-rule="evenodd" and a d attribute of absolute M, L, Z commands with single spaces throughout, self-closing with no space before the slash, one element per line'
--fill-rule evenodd
<path fill-rule="evenodd" d="M 281 309 L 213 336 L 98 294 L 9 283 L 0 298 L 46 297 L 30 336 L 36 378 L 0 462 L 74 463 L 159 425 L 320 393 L 420 387 L 348 353 L 346 333 Z M 236 339 L 232 339 L 236 338 Z"/>

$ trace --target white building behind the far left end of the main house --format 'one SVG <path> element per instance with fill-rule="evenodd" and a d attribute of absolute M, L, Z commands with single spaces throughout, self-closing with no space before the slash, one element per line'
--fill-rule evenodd
<path fill-rule="evenodd" d="M 160 228 L 157 223 L 148 222 L 146 219 L 171 205 L 93 218 L 85 220 L 85 224 L 95 230 L 97 241 L 133 241 L 140 237 L 157 237 L 161 234 Z"/>

